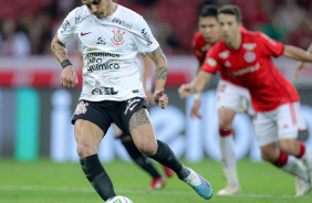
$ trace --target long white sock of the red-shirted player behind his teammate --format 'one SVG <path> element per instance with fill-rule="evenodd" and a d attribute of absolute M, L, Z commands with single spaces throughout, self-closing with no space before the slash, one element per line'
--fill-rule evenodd
<path fill-rule="evenodd" d="M 228 184 L 239 185 L 232 135 L 220 137 L 220 150 L 223 163 L 223 172 L 227 178 Z"/>

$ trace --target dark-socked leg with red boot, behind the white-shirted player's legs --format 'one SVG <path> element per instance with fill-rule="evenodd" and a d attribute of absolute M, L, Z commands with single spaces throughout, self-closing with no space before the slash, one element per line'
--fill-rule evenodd
<path fill-rule="evenodd" d="M 148 190 L 162 189 L 165 186 L 166 181 L 153 165 L 149 158 L 144 156 L 133 142 L 133 139 L 129 135 L 124 133 L 115 124 L 112 124 L 112 129 L 117 139 L 122 141 L 122 145 L 125 147 L 132 160 L 146 171 L 153 179 L 152 183 L 148 186 Z"/>

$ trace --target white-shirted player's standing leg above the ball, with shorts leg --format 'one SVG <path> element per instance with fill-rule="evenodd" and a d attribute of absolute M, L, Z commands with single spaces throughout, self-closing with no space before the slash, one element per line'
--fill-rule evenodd
<path fill-rule="evenodd" d="M 97 152 L 101 140 L 107 131 L 111 120 L 94 108 L 95 103 L 81 101 L 76 108 L 72 124 L 77 142 L 77 154 L 82 170 L 97 192 L 104 200 L 115 196 L 113 183 L 100 162 Z"/>

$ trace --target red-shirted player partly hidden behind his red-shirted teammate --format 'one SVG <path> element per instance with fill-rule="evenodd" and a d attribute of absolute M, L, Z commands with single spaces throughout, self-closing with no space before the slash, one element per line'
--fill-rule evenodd
<path fill-rule="evenodd" d="M 198 32 L 193 39 L 193 52 L 198 61 L 198 71 L 205 62 L 207 52 L 220 39 L 217 7 L 206 6 L 201 9 L 198 18 Z M 242 30 L 245 30 L 242 28 Z M 201 119 L 199 107 L 201 93 L 195 94 L 190 116 Z M 218 191 L 217 195 L 232 195 L 240 192 L 240 183 L 237 175 L 237 160 L 232 133 L 232 121 L 236 113 L 248 111 L 253 115 L 249 90 L 240 85 L 227 72 L 221 72 L 221 79 L 217 87 L 217 107 L 219 114 L 220 151 L 223 172 L 228 185 Z"/>

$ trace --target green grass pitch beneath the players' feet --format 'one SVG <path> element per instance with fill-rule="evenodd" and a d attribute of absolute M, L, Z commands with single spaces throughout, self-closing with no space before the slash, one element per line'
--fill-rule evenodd
<path fill-rule="evenodd" d="M 209 180 L 214 191 L 226 185 L 221 164 L 209 159 L 186 163 Z M 162 171 L 158 163 L 155 165 Z M 115 192 L 134 203 L 312 203 L 309 196 L 293 197 L 294 178 L 266 162 L 238 162 L 242 192 L 207 201 L 177 177 L 167 179 L 163 190 L 147 191 L 150 178 L 133 163 L 104 163 Z M 162 171 L 163 172 L 163 171 Z M 50 160 L 18 162 L 0 160 L 0 203 L 103 203 L 84 177 L 79 163 L 53 163 Z"/>

